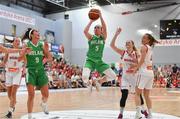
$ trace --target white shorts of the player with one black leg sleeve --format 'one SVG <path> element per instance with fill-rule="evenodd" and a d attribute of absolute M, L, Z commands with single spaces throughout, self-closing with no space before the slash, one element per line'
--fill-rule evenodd
<path fill-rule="evenodd" d="M 128 89 L 135 92 L 137 74 L 128 74 L 122 76 L 121 89 Z"/>

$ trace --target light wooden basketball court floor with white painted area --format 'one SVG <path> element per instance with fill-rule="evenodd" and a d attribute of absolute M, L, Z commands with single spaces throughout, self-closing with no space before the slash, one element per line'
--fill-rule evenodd
<path fill-rule="evenodd" d="M 117 119 L 121 93 L 118 87 L 95 89 L 90 93 L 84 89 L 50 90 L 49 115 L 40 107 L 41 95 L 36 92 L 33 117 L 35 119 Z M 180 119 L 180 90 L 154 88 L 151 93 L 153 101 L 153 119 Z M 27 119 L 27 92 L 18 92 L 14 119 Z M 0 118 L 8 110 L 6 93 L 0 93 Z M 134 95 L 127 101 L 124 119 L 134 119 Z"/>

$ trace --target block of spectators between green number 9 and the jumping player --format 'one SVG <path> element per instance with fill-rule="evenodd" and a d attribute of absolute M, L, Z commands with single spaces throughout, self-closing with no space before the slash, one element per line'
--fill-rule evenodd
<path fill-rule="evenodd" d="M 50 89 L 83 88 L 82 68 L 68 64 L 64 59 L 54 59 L 51 65 L 46 65 Z"/>

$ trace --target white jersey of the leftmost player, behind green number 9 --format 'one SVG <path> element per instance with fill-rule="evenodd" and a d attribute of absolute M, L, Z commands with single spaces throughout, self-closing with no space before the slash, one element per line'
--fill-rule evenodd
<path fill-rule="evenodd" d="M 23 62 L 18 61 L 20 54 L 19 53 L 8 53 L 8 59 L 6 62 L 6 71 L 9 69 L 22 69 L 23 67 Z"/>

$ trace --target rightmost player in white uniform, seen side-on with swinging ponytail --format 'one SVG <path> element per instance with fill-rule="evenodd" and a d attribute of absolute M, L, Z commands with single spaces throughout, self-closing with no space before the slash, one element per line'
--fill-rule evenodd
<path fill-rule="evenodd" d="M 158 43 L 151 34 L 145 34 L 142 37 L 141 58 L 134 72 L 138 71 L 136 80 L 136 116 L 135 119 L 141 119 L 140 95 L 144 93 L 146 105 L 148 108 L 148 119 L 152 118 L 152 102 L 150 99 L 150 90 L 152 89 L 154 73 L 152 70 L 152 48 Z"/>

